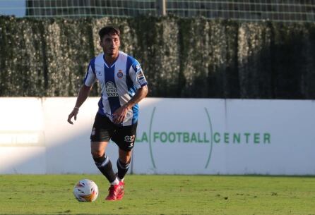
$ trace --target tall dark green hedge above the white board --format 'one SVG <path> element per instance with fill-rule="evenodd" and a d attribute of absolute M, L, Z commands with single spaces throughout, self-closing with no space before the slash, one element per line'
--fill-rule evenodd
<path fill-rule="evenodd" d="M 315 99 L 315 23 L 177 17 L 1 16 L 0 97 L 76 96 L 105 25 L 120 28 L 150 97 Z"/>

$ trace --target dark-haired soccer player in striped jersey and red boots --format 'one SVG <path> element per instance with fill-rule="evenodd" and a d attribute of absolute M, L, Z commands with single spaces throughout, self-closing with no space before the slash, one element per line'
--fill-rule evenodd
<path fill-rule="evenodd" d="M 102 95 L 90 135 L 90 146 L 97 168 L 110 183 L 106 199 L 114 201 L 124 196 L 124 176 L 129 169 L 131 150 L 136 140 L 138 102 L 148 94 L 148 87 L 138 61 L 119 51 L 119 30 L 110 26 L 103 27 L 99 35 L 104 53 L 90 61 L 68 122 L 73 124 L 73 117 L 76 120 L 80 106 L 98 80 Z M 114 173 L 112 162 L 105 154 L 110 139 L 119 147 L 117 174 Z"/>

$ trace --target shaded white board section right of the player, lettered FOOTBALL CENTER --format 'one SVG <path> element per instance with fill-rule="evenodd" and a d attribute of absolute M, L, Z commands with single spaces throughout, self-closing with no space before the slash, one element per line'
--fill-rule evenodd
<path fill-rule="evenodd" d="M 315 103 L 155 99 L 143 105 L 134 173 L 315 174 Z"/>

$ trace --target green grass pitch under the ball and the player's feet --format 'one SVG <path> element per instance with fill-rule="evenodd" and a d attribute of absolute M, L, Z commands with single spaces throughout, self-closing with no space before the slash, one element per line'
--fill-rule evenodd
<path fill-rule="evenodd" d="M 83 178 L 95 202 L 73 197 Z M 0 214 L 315 214 L 314 177 L 129 175 L 119 202 L 105 202 L 107 188 L 100 175 L 0 175 Z"/>

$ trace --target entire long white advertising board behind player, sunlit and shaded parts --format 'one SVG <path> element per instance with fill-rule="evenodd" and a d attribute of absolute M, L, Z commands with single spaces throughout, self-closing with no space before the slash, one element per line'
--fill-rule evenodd
<path fill-rule="evenodd" d="M 75 101 L 0 98 L 0 173 L 99 173 L 90 156 L 98 98 L 70 125 Z M 147 98 L 130 171 L 315 175 L 314 110 L 309 100 Z M 107 154 L 116 166 L 114 143 Z"/>

